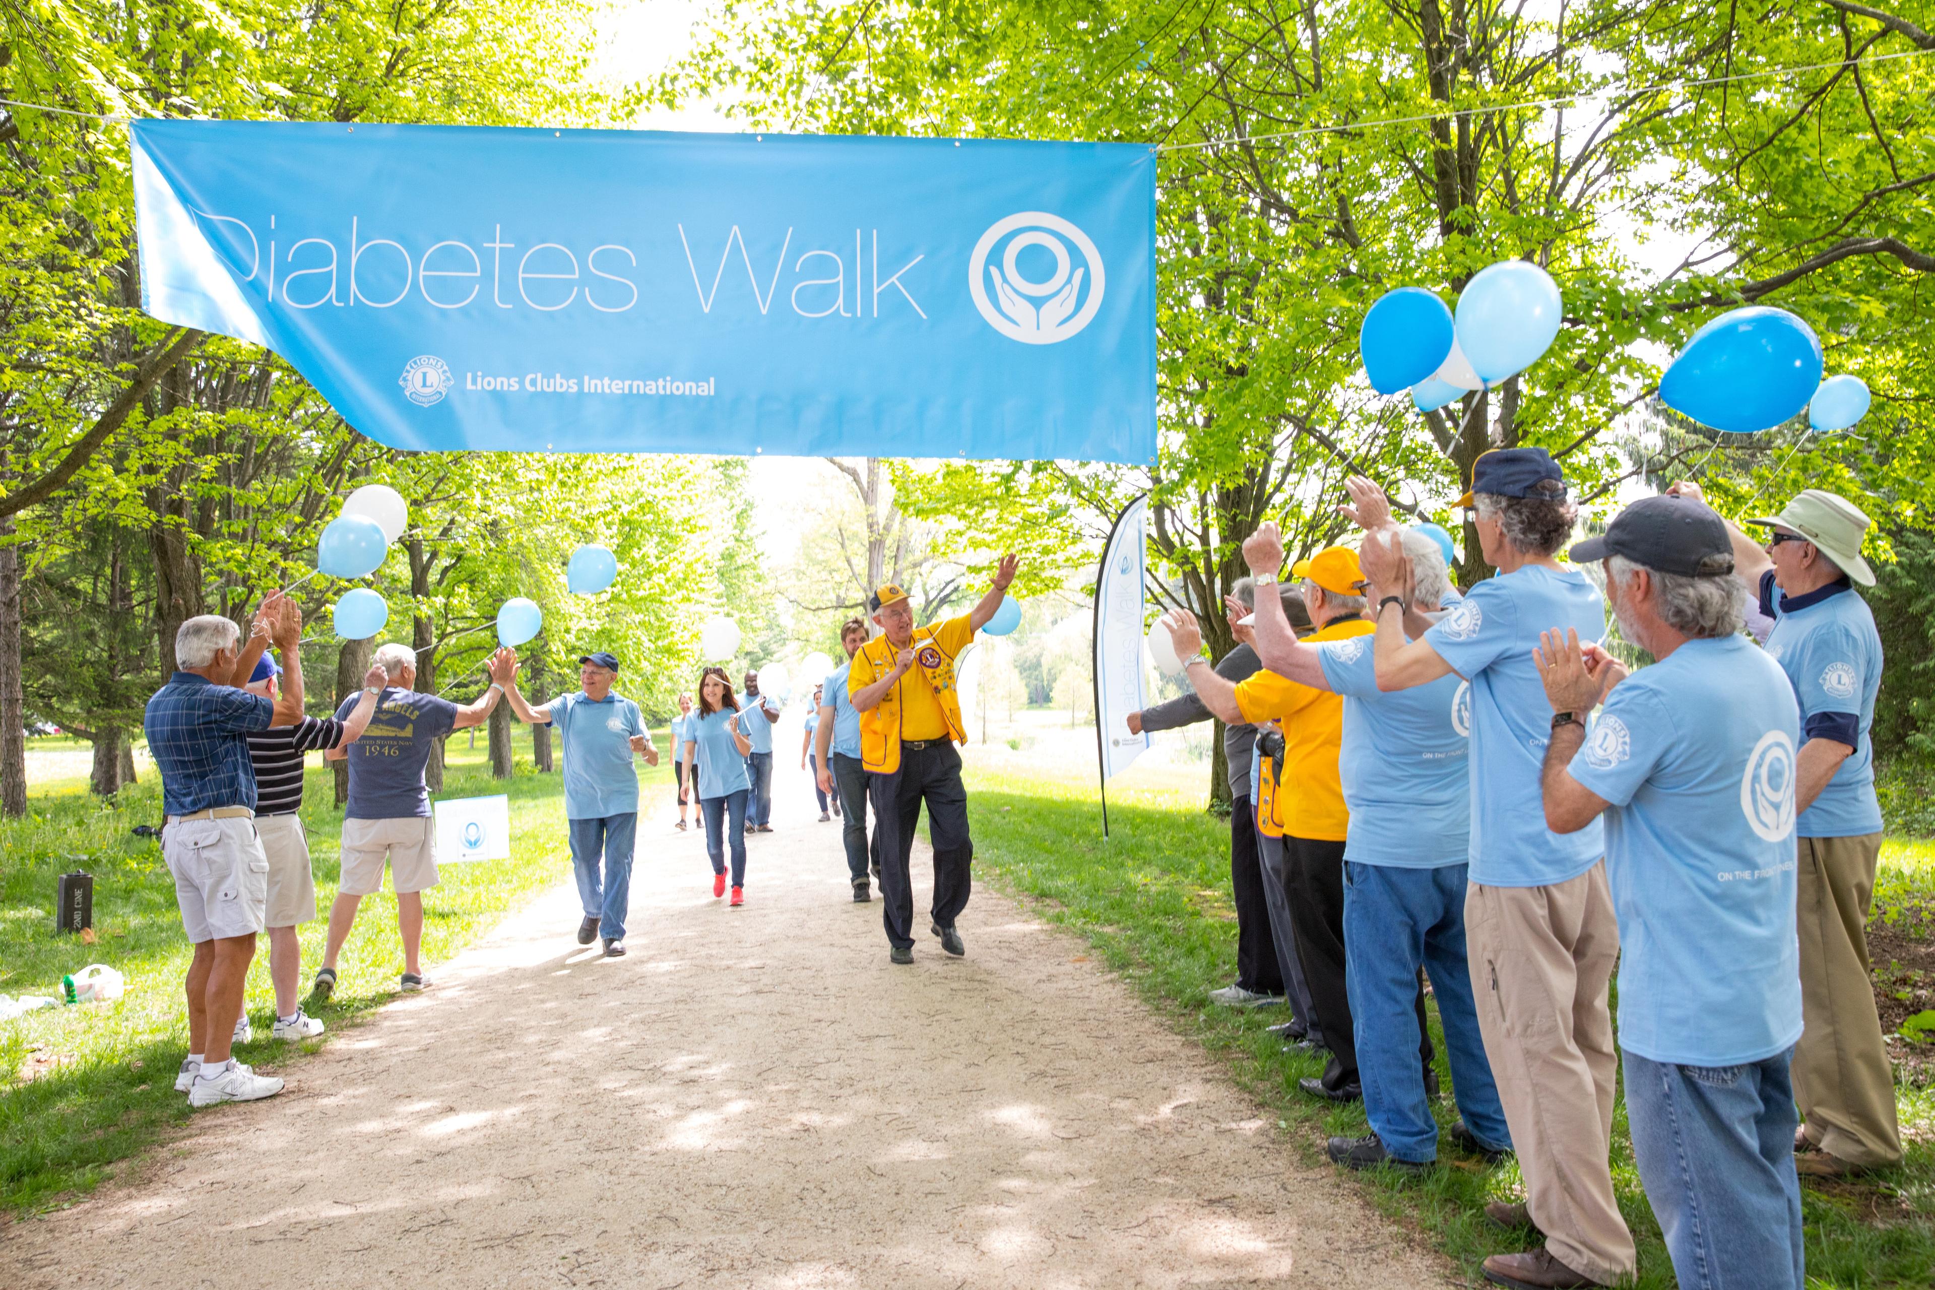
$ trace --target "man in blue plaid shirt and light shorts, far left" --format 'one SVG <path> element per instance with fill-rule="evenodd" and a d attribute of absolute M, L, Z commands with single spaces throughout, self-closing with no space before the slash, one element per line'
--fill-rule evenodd
<path fill-rule="evenodd" d="M 265 640 L 283 613 L 263 600 L 255 632 Z M 259 658 L 261 646 L 253 646 Z M 161 855 L 174 878 L 188 965 L 188 1058 L 174 1079 L 190 1106 L 275 1097 L 283 1081 L 234 1060 L 236 1021 L 255 936 L 263 930 L 269 861 L 255 837 L 255 768 L 248 735 L 269 729 L 275 704 L 240 690 L 242 629 L 217 613 L 174 632 L 176 671 L 147 700 L 141 719 L 161 772 Z"/>

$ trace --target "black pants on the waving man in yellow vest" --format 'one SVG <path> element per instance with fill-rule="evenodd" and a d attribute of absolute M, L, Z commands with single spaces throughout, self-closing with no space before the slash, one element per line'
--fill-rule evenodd
<path fill-rule="evenodd" d="M 921 803 L 927 803 L 927 837 L 935 845 L 935 905 L 940 926 L 968 907 L 973 882 L 968 863 L 973 843 L 968 839 L 968 789 L 962 785 L 962 754 L 946 739 L 935 739 L 919 748 L 902 745 L 900 770 L 892 776 L 867 772 L 867 791 L 873 799 L 873 839 L 880 849 L 880 923 L 894 946 L 913 946 L 913 886 L 908 863 L 913 859 L 913 830 L 921 822 Z"/>

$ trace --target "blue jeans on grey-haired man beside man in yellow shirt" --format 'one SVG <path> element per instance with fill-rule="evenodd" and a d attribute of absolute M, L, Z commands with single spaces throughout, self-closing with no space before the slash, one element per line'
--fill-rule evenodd
<path fill-rule="evenodd" d="M 1465 1128 L 1511 1147 L 1465 961 L 1465 865 L 1395 868 L 1345 863 L 1343 944 L 1364 1116 L 1399 1160 L 1438 1158 L 1438 1122 L 1418 1064 L 1418 969 L 1432 975 Z M 1792 1147 L 1792 1143 L 1790 1143 Z"/>

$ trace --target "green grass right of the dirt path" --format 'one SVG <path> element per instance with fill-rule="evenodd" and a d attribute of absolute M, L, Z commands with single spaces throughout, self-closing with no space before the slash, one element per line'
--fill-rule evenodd
<path fill-rule="evenodd" d="M 1101 839 L 1093 779 L 1058 781 L 971 766 L 975 863 L 1041 913 L 1082 936 L 1180 1033 L 1223 1058 L 1238 1083 L 1277 1116 L 1293 1151 L 1320 1162 L 1325 1135 L 1370 1128 L 1360 1106 L 1333 1108 L 1296 1091 L 1322 1064 L 1285 1054 L 1265 1035 L 1275 1010 L 1207 1006 L 1204 994 L 1235 979 L 1236 923 L 1229 897 L 1229 828 L 1202 810 L 1200 789 L 1109 791 L 1111 839 Z M 1935 888 L 1935 845 L 1890 843 L 1885 882 Z M 1444 1037 L 1432 1006 L 1432 1037 L 1445 1097 L 1434 1108 L 1457 1116 Z M 1935 1267 L 1935 1093 L 1902 1091 L 1908 1162 L 1863 1186 L 1805 1189 L 1807 1273 L 1813 1286 L 1927 1286 Z M 1625 1106 L 1614 1126 L 1612 1178 L 1620 1209 L 1639 1242 L 1639 1286 L 1674 1284 L 1672 1263 L 1647 1205 L 1625 1135 Z M 1488 1199 L 1519 1199 L 1515 1162 L 1486 1168 L 1440 1143 L 1440 1168 L 1424 1176 L 1358 1174 L 1364 1195 L 1385 1215 L 1428 1232 L 1473 1280 L 1488 1253 L 1531 1242 L 1484 1222 Z"/>

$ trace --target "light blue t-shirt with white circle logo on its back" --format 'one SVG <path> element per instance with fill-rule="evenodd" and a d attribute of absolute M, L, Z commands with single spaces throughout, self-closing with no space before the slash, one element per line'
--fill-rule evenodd
<path fill-rule="evenodd" d="M 1738 1066 L 1801 1037 L 1800 706 L 1745 636 L 1689 640 L 1606 698 L 1571 776 L 1604 797 L 1620 1046 Z"/>

